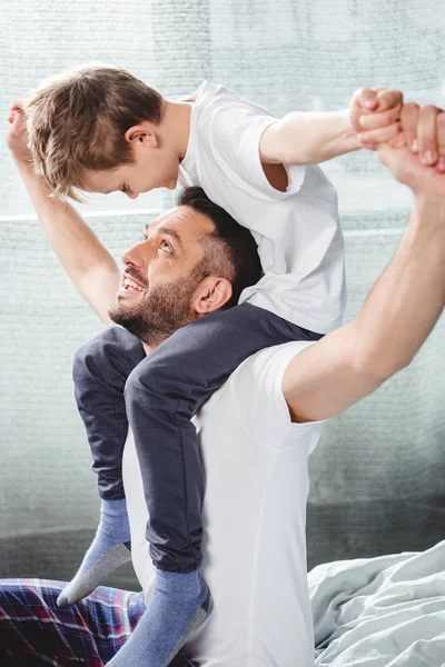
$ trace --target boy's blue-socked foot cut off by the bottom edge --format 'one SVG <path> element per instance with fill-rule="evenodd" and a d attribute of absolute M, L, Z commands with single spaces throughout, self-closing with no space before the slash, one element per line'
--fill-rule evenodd
<path fill-rule="evenodd" d="M 157 570 L 147 609 L 109 667 L 167 667 L 210 610 L 199 573 Z"/>

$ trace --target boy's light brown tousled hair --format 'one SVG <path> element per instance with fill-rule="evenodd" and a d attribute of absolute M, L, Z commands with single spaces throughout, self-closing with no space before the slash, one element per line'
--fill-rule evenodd
<path fill-rule="evenodd" d="M 126 131 L 141 120 L 158 125 L 162 96 L 118 67 L 88 63 L 44 79 L 22 100 L 29 150 L 50 197 L 86 201 L 87 170 L 135 162 Z"/>

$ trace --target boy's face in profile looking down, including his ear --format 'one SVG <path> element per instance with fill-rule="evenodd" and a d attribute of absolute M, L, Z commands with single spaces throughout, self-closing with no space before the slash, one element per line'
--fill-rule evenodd
<path fill-rule="evenodd" d="M 135 163 L 106 171 L 87 171 L 86 191 L 109 195 L 121 190 L 130 199 L 136 199 L 141 192 L 156 188 L 176 188 L 179 171 L 177 152 L 168 142 L 159 142 L 159 137 L 148 123 L 131 130 L 126 138 L 131 143 Z"/>

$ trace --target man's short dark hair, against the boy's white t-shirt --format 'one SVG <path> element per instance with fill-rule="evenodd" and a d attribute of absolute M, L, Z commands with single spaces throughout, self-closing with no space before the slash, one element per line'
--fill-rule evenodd
<path fill-rule="evenodd" d="M 177 205 L 189 206 L 214 222 L 215 231 L 202 240 L 202 273 L 204 277 L 220 276 L 229 280 L 233 293 L 225 308 L 236 306 L 241 291 L 258 282 L 263 276 L 254 237 L 246 227 L 214 203 L 202 188 L 185 188 L 179 192 Z"/>

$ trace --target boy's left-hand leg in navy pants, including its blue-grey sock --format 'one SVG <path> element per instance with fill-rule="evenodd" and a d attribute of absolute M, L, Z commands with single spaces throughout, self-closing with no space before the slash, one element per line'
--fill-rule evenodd
<path fill-rule="evenodd" d="M 82 346 L 73 362 L 75 396 L 87 429 L 92 469 L 98 474 L 101 518 L 96 537 L 58 604 L 89 595 L 119 565 L 130 560 L 130 527 L 122 485 L 122 451 L 128 432 L 123 387 L 146 358 L 142 344 L 122 327 L 105 329 Z"/>

